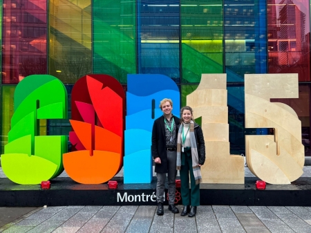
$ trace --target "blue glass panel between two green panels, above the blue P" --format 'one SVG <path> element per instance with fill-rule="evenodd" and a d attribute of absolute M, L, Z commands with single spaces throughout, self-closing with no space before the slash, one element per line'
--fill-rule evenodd
<path fill-rule="evenodd" d="M 138 0 L 138 73 L 180 83 L 179 1 Z"/>

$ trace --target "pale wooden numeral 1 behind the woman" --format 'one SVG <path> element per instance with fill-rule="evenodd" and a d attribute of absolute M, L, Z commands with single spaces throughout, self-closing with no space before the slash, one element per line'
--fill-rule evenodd
<path fill-rule="evenodd" d="M 200 85 L 187 96 L 196 118 L 202 117 L 206 160 L 203 183 L 244 184 L 244 158 L 230 156 L 226 74 L 202 74 Z"/>

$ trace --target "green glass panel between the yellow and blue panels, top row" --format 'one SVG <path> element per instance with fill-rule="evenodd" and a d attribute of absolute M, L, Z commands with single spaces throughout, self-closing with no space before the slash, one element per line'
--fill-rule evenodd
<path fill-rule="evenodd" d="M 135 1 L 93 1 L 93 73 L 126 84 L 126 75 L 136 73 L 135 41 Z"/>

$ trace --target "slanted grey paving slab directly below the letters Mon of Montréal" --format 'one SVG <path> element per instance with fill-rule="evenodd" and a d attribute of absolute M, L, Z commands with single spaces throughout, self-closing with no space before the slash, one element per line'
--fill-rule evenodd
<path fill-rule="evenodd" d="M 104 227 L 102 232 L 124 232 L 137 209 L 137 206 L 120 207 L 120 209 L 117 211 L 117 213 L 115 213 L 113 218 L 111 218 L 111 221 L 109 221 L 109 223 Z"/>

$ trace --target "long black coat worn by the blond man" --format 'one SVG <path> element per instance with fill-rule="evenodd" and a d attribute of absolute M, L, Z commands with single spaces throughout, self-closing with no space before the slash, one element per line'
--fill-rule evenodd
<path fill-rule="evenodd" d="M 176 137 L 178 135 L 180 119 L 173 115 L 176 124 Z M 160 157 L 161 163 L 156 163 L 155 171 L 167 173 L 167 147 L 165 138 L 164 115 L 153 122 L 151 153 L 153 159 Z M 176 139 L 177 142 L 177 139 Z"/>

